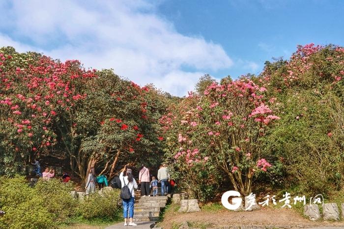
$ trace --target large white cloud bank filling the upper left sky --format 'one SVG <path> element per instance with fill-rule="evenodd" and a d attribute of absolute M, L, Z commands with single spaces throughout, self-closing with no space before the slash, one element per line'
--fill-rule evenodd
<path fill-rule="evenodd" d="M 113 68 L 118 75 L 141 85 L 154 83 L 174 95 L 192 90 L 206 71 L 233 64 L 220 45 L 178 33 L 155 14 L 157 5 L 145 0 L 18 0 L 0 6 L 0 46 Z"/>

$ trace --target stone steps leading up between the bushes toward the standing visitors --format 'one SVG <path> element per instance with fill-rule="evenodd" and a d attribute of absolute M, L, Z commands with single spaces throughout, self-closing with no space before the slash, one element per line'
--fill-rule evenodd
<path fill-rule="evenodd" d="M 133 220 L 135 222 L 159 220 L 160 210 L 165 208 L 168 200 L 167 196 L 135 197 Z"/>

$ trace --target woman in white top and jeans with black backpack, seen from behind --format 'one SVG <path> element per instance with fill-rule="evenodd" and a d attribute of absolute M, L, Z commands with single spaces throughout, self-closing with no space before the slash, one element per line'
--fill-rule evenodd
<path fill-rule="evenodd" d="M 137 226 L 137 224 L 133 223 L 134 217 L 134 202 L 135 202 L 135 192 L 134 188 L 138 188 L 138 184 L 136 180 L 133 178 L 133 172 L 131 169 L 127 168 L 129 164 L 126 164 L 124 168 L 121 170 L 119 178 L 122 183 L 121 189 L 121 199 L 123 204 L 123 218 L 124 218 L 124 226 L 128 226 L 127 218 L 128 218 L 128 210 L 129 210 L 129 226 Z"/>

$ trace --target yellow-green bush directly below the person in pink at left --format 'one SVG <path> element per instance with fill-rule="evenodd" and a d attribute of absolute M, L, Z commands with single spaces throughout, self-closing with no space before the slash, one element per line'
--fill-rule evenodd
<path fill-rule="evenodd" d="M 54 220 L 63 222 L 75 214 L 78 204 L 70 195 L 73 183 L 63 183 L 58 179 L 40 179 L 34 188 L 43 199 L 43 205 L 54 215 Z"/>

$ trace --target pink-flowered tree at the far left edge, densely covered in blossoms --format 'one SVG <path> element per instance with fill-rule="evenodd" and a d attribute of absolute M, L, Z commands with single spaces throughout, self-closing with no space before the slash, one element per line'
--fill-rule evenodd
<path fill-rule="evenodd" d="M 2 162 L 13 170 L 13 163 L 51 152 L 58 137 L 54 124 L 86 97 L 80 87 L 95 74 L 78 61 L 61 63 L 13 48 L 1 49 L 0 56 Z"/>

